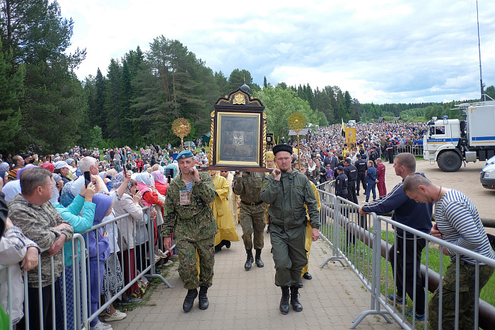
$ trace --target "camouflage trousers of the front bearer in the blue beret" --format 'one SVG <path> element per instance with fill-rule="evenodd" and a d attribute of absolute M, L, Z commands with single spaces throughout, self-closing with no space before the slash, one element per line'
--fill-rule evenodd
<path fill-rule="evenodd" d="M 214 244 L 215 235 L 197 242 L 175 238 L 175 246 L 180 256 L 179 276 L 187 290 L 195 289 L 200 285 L 211 287 L 215 265 Z M 199 256 L 199 278 L 196 251 Z"/>

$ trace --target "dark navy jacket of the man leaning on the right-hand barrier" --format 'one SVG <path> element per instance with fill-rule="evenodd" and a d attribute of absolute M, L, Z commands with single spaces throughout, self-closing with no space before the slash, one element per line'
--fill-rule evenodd
<path fill-rule="evenodd" d="M 424 176 L 423 173 L 417 174 Z M 402 182 L 404 182 L 404 179 L 402 179 Z M 429 234 L 432 227 L 431 215 L 433 213 L 433 203 L 417 203 L 414 199 L 410 199 L 402 189 L 402 182 L 397 184 L 383 199 L 363 206 L 363 211 L 375 213 L 389 213 L 393 211 L 392 220 Z M 401 228 L 397 228 L 396 231 L 397 235 L 403 237 L 404 233 Z M 408 234 L 407 237 L 413 237 L 413 235 Z"/>

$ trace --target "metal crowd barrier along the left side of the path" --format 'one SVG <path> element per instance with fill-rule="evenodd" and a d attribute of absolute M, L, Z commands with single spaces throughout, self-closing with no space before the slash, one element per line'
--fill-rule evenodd
<path fill-rule="evenodd" d="M 0 265 L 0 272 L 6 273 L 0 278 L 0 298 L 9 315 L 8 329 L 16 329 L 15 326 L 17 329 L 89 329 L 115 300 L 132 295 L 132 288 L 138 281 L 146 283 L 146 279 L 158 278 L 172 288 L 161 274 L 156 273 L 159 259 L 155 252 L 159 240 L 155 240 L 155 229 L 159 232 L 159 228 L 156 228 L 155 220 L 150 220 L 149 208 L 144 207 L 142 211 L 142 220 L 129 220 L 129 213 L 115 218 L 110 216 L 91 230 L 75 233 L 70 243 L 71 264 L 66 265 L 62 258 L 62 273 L 56 276 L 54 257 L 50 257 L 50 283 L 45 287 L 42 287 L 46 278 L 42 277 L 45 267 L 41 266 L 41 254 L 37 268 L 23 272 L 22 279 L 17 262 Z M 106 240 L 100 237 L 103 231 L 109 234 L 110 253 Z M 95 249 L 93 244 L 90 247 L 92 240 L 95 240 Z M 42 249 L 42 252 L 46 251 Z M 62 256 L 64 252 L 63 247 Z M 28 282 L 28 273 L 30 276 L 37 274 L 35 283 L 33 280 Z"/>

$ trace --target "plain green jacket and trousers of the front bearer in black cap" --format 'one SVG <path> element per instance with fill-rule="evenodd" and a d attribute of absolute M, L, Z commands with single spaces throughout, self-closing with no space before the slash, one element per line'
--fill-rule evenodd
<path fill-rule="evenodd" d="M 308 177 L 297 170 L 282 172 L 280 181 L 264 177 L 261 196 L 270 204 L 268 216 L 275 261 L 275 285 L 299 285 L 301 271 L 308 264 L 305 250 L 306 208 L 311 228 L 320 228 L 320 213 Z"/>

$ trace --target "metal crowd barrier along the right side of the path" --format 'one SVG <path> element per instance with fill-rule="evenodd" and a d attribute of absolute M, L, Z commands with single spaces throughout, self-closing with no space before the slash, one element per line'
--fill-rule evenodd
<path fill-rule="evenodd" d="M 360 216 L 358 205 L 327 190 L 329 189 L 325 185 L 318 186 L 322 200 L 320 235 L 332 247 L 332 255 L 320 267 L 323 268 L 329 261 L 338 261 L 342 266 L 349 266 L 371 294 L 370 309 L 356 315 L 350 329 L 355 329 L 366 316 L 373 314 L 382 316 L 385 322 L 392 322 L 391 319 L 394 319 L 403 329 L 427 329 L 431 322 L 435 323 L 431 324 L 432 329 L 493 328 L 495 307 L 479 300 L 478 293 L 480 271 L 486 273 L 487 269 L 487 266 L 480 263 L 495 267 L 495 260 L 414 230 L 390 218 L 377 216 L 375 213 Z M 407 240 L 402 240 L 394 228 L 404 230 Z M 401 240 L 405 243 L 402 244 Z M 419 253 L 421 247 L 424 247 L 423 264 L 418 263 L 414 257 L 412 261 L 406 260 L 407 254 L 414 256 Z M 455 252 L 455 262 L 448 266 L 447 270 L 455 278 L 455 292 L 444 290 L 438 275 L 445 271 L 443 261 L 447 257 L 439 252 L 443 247 Z M 474 291 L 470 293 L 466 292 L 467 288 L 462 284 L 465 283 L 465 278 L 460 278 L 463 276 L 460 269 L 467 267 L 465 262 L 460 260 L 461 255 L 476 261 L 472 273 Z M 430 264 L 430 259 L 438 259 L 438 265 L 434 265 L 438 266 L 438 273 L 429 269 L 437 262 L 432 261 Z M 391 263 L 394 266 L 391 266 Z M 421 276 L 414 276 L 417 272 L 421 273 Z M 397 276 L 393 276 L 394 273 Z M 438 321 L 428 319 L 428 293 L 437 288 L 438 305 L 443 308 L 433 309 L 432 315 L 437 315 Z M 392 299 L 388 299 L 388 295 Z M 421 296 L 424 298 L 421 299 Z M 407 308 L 397 297 L 403 297 L 404 302 L 407 299 Z M 445 304 L 451 305 L 455 313 L 448 312 Z M 466 308 L 470 309 L 467 314 L 472 315 L 472 322 L 465 317 L 459 317 L 460 312 Z M 412 317 L 415 314 L 419 315 Z M 421 320 L 423 314 L 424 321 Z M 448 320 L 451 322 L 446 323 Z"/>

